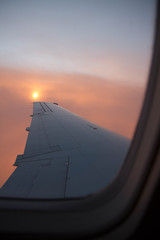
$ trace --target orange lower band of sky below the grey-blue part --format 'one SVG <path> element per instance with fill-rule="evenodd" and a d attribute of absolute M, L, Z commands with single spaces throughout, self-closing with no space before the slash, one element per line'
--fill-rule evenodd
<path fill-rule="evenodd" d="M 17 154 L 22 154 L 30 125 L 32 94 L 39 101 L 58 102 L 60 106 L 118 132 L 133 136 L 144 88 L 113 84 L 81 74 L 31 72 L 0 69 L 0 186 L 14 171 Z"/>

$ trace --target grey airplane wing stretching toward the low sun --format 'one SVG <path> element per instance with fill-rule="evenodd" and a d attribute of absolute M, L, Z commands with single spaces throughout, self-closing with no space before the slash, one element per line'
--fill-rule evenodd
<path fill-rule="evenodd" d="M 130 141 L 60 107 L 34 102 L 24 154 L 0 196 L 60 199 L 104 188 L 118 173 Z"/>

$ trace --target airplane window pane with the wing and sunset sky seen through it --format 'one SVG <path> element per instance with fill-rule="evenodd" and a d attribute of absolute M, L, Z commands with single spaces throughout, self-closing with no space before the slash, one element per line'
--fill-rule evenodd
<path fill-rule="evenodd" d="M 155 10 L 0 2 L 0 196 L 83 197 L 114 180 L 143 104 Z"/>

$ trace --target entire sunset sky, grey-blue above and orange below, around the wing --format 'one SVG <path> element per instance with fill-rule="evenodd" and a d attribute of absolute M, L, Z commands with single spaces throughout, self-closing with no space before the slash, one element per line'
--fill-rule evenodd
<path fill-rule="evenodd" d="M 154 20 L 150 0 L 0 1 L 0 186 L 23 153 L 34 92 L 132 138 Z"/>

